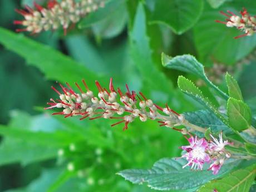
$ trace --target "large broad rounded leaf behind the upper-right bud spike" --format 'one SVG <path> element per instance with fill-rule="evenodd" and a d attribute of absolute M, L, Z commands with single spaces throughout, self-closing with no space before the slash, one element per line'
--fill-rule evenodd
<path fill-rule="evenodd" d="M 204 11 L 193 28 L 195 46 L 201 62 L 204 64 L 221 62 L 232 65 L 252 52 L 256 46 L 256 36 L 234 40 L 235 36 L 242 35 L 243 32 L 237 28 L 228 28 L 225 24 L 214 22 L 214 20 L 225 21 L 225 16 L 219 11 L 231 10 L 239 14 L 243 7 L 255 13 L 256 1 L 236 0 L 232 3 L 225 3 L 219 9 L 213 9 L 205 3 Z"/>

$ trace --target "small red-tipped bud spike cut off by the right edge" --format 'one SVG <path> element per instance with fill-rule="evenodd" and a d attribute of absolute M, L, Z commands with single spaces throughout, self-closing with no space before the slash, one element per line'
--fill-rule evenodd
<path fill-rule="evenodd" d="M 226 19 L 227 22 L 216 20 L 218 23 L 223 23 L 227 27 L 237 27 L 237 29 L 240 29 L 244 32 L 243 35 L 234 37 L 234 38 L 240 38 L 244 36 L 252 36 L 256 32 L 256 16 L 250 16 L 250 14 L 247 12 L 247 9 L 243 9 L 243 11 L 240 11 L 241 17 L 237 16 L 235 13 L 231 11 L 227 11 L 229 14 L 224 13 L 221 11 L 220 13 L 224 16 L 228 17 Z"/>

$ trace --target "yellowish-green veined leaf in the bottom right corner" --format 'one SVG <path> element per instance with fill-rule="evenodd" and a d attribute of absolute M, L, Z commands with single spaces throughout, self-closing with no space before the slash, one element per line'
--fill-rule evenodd
<path fill-rule="evenodd" d="M 213 180 L 202 186 L 198 192 L 248 192 L 256 176 L 256 165 L 234 171 L 225 178 Z"/>

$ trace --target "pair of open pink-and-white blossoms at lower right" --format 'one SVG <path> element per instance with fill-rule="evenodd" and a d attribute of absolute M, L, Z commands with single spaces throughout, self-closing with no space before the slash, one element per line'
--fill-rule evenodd
<path fill-rule="evenodd" d="M 182 146 L 181 148 L 186 153 L 181 156 L 188 160 L 188 164 L 184 165 L 191 166 L 191 169 L 203 170 L 205 163 L 211 163 L 208 170 L 213 171 L 213 174 L 218 174 L 221 166 L 224 164 L 225 159 L 230 157 L 228 151 L 225 150 L 226 145 L 232 145 L 228 141 L 223 141 L 222 134 L 219 134 L 219 140 L 213 135 L 210 135 L 212 140 L 206 141 L 204 138 L 198 139 L 198 137 L 191 136 L 188 141 L 188 146 Z"/>

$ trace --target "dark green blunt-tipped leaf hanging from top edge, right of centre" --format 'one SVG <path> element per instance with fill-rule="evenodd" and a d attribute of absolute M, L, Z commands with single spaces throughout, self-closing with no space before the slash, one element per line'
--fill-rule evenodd
<path fill-rule="evenodd" d="M 157 0 L 151 23 L 165 24 L 180 35 L 198 21 L 203 11 L 203 4 L 202 0 Z"/>

